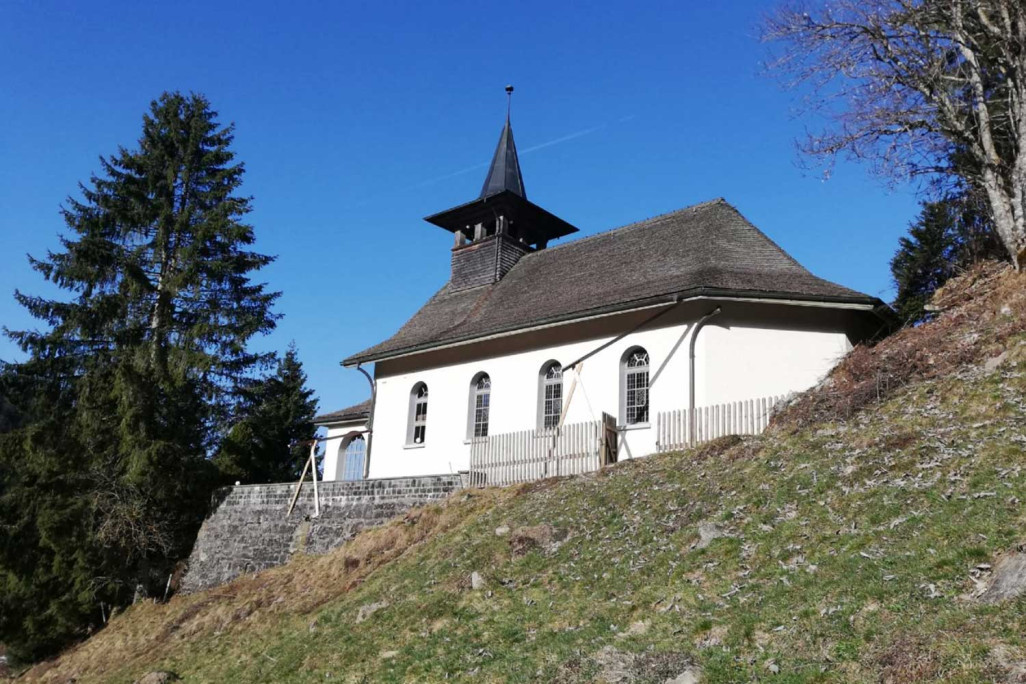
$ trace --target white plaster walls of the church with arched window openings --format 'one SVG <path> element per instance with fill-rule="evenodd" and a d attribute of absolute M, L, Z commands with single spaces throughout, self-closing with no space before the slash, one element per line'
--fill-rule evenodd
<path fill-rule="evenodd" d="M 851 349 L 852 339 L 866 335 L 865 308 L 856 306 L 685 301 L 585 361 L 566 423 L 597 419 L 604 411 L 622 425 L 621 359 L 627 350 L 642 347 L 649 355 L 652 423 L 621 430 L 620 458 L 654 453 L 656 413 L 687 407 L 690 336 L 696 321 L 716 307 L 721 313 L 700 329 L 696 344 L 697 406 L 805 390 Z M 653 311 L 610 315 L 379 361 L 368 477 L 467 470 L 471 383 L 477 373 L 486 372 L 491 379 L 489 434 L 536 428 L 539 378 L 548 362 L 558 361 L 566 367 L 631 330 Z M 574 372 L 564 374 L 564 401 L 574 378 Z M 415 445 L 407 443 L 407 436 L 410 392 L 419 383 L 427 384 L 429 391 L 427 433 L 424 443 Z M 325 479 L 329 472 L 336 471 L 325 466 Z"/>

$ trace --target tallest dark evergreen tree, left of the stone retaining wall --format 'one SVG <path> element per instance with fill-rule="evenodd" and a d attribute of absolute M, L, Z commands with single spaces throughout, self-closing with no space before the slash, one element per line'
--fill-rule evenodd
<path fill-rule="evenodd" d="M 63 215 L 63 249 L 31 259 L 65 299 L 15 292 L 44 324 L 7 331 L 22 426 L 0 439 L 0 641 L 36 657 L 101 604 L 166 579 L 188 553 L 215 474 L 207 459 L 244 378 L 247 341 L 277 297 L 252 274 L 233 127 L 198 94 L 164 93 L 137 150 L 101 159 Z"/>

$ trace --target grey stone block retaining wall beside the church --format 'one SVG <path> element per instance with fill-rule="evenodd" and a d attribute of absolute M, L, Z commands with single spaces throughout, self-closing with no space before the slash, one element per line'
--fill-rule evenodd
<path fill-rule="evenodd" d="M 248 572 L 282 565 L 295 553 L 322 554 L 416 506 L 437 501 L 463 486 L 460 475 L 318 482 L 314 518 L 310 482 L 285 518 L 295 483 L 241 485 L 219 490 L 189 557 L 181 591 L 223 585 Z"/>

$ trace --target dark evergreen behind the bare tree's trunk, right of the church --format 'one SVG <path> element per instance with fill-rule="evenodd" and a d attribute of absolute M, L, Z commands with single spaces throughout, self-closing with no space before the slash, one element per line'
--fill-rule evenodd
<path fill-rule="evenodd" d="M 1000 248 L 987 208 L 974 193 L 924 202 L 891 259 L 898 315 L 909 324 L 924 320 L 925 306 L 938 288 L 975 261 L 1000 258 Z"/>

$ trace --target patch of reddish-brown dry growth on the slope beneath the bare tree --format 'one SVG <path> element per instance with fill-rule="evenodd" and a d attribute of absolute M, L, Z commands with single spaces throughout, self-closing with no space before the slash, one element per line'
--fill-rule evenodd
<path fill-rule="evenodd" d="M 904 328 L 876 345 L 856 347 L 820 387 L 778 413 L 777 429 L 798 430 L 850 418 L 914 379 L 982 364 L 1026 331 L 1026 273 L 985 261 L 952 279 L 934 297 L 929 325 Z"/>

